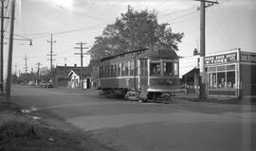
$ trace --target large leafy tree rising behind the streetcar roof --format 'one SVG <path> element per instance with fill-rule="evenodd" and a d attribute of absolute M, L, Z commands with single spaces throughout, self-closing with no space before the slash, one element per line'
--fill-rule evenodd
<path fill-rule="evenodd" d="M 174 33 L 168 24 L 159 25 L 155 11 L 137 11 L 128 6 L 114 24 L 107 25 L 101 36 L 96 37 L 90 50 L 91 59 L 99 60 L 155 44 L 177 51 L 177 43 L 183 36 L 183 33 Z"/>

